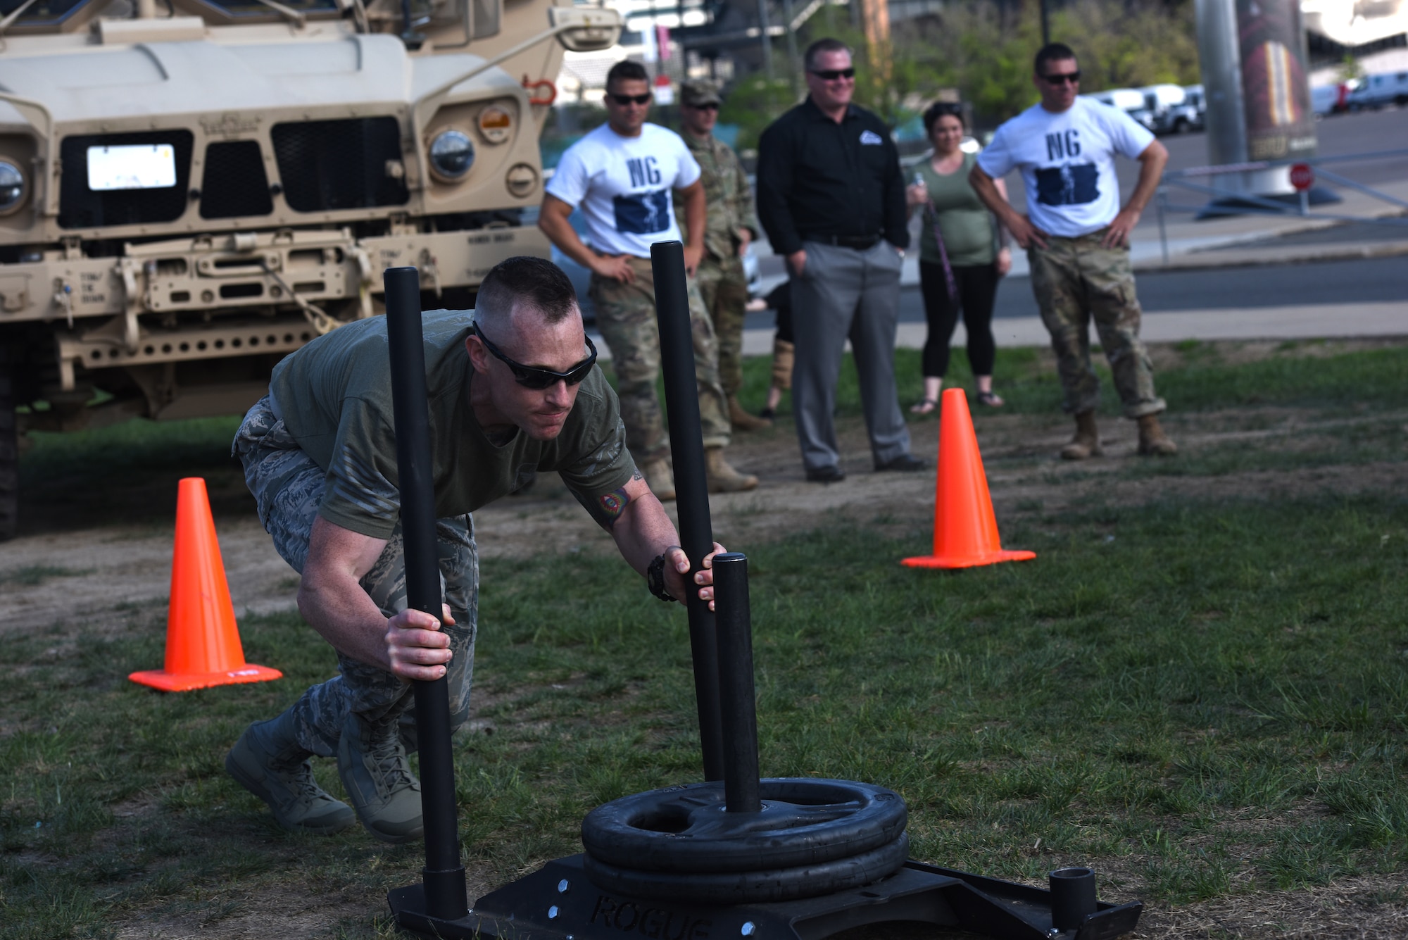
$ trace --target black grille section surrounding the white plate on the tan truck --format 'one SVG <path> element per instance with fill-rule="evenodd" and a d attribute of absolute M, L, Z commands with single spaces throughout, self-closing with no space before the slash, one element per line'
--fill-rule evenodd
<path fill-rule="evenodd" d="M 90 146 L 170 144 L 176 152 L 176 186 L 162 189 L 90 190 L 87 151 Z M 62 228 L 104 228 L 170 222 L 186 211 L 190 190 L 190 131 L 145 131 L 141 134 L 86 134 L 66 136 L 59 145 L 59 225 Z"/>

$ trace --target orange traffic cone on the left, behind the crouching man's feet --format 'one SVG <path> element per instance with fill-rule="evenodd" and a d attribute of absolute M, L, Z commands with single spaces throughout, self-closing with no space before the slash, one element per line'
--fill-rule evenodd
<path fill-rule="evenodd" d="M 282 675 L 268 666 L 245 663 L 206 481 L 186 477 L 176 497 L 166 668 L 132 673 L 128 678 L 163 692 L 184 692 L 208 685 L 263 682 Z"/>

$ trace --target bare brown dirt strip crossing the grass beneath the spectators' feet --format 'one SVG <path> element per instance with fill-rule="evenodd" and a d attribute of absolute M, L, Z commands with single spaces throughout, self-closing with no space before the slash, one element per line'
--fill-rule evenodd
<path fill-rule="evenodd" d="M 983 411 L 974 415 L 974 424 L 1000 526 L 1024 508 L 1052 515 L 1093 504 L 1128 507 L 1190 498 L 1384 490 L 1401 481 L 1400 460 L 1408 456 L 1404 446 L 1408 411 L 1326 417 L 1315 409 L 1264 407 L 1174 414 L 1164 424 L 1181 452 L 1160 464 L 1135 453 L 1133 424 L 1122 419 L 1101 421 L 1105 456 L 1080 463 L 1056 457 L 1070 433 L 1063 415 Z M 1398 459 L 1338 462 L 1339 435 L 1356 425 L 1395 429 Z M 749 545 L 817 526 L 863 523 L 888 535 L 912 535 L 918 553 L 925 547 L 924 531 L 934 518 L 938 428 L 936 419 L 910 426 L 914 453 L 929 459 L 924 471 L 874 473 L 863 424 L 856 418 L 841 419 L 838 436 L 848 477 L 825 485 L 805 481 L 788 422 L 741 433 L 729 459 L 756 473 L 762 483 L 752 493 L 711 497 L 715 538 L 746 550 Z M 1226 455 L 1238 447 L 1255 447 L 1263 459 L 1286 466 L 1174 476 L 1178 462 Z M 1152 471 L 1159 473 L 1152 476 Z M 674 505 L 666 508 L 673 516 Z M 545 474 L 528 493 L 476 512 L 474 526 L 484 557 L 614 552 L 610 536 L 582 511 L 556 474 Z M 273 550 L 256 518 L 222 516 L 217 532 L 238 615 L 294 606 L 297 574 Z M 110 526 L 0 543 L 0 574 L 11 574 L 0 578 L 0 635 L 79 618 L 87 632 L 96 633 L 152 629 L 161 623 L 158 616 L 138 625 L 132 611 L 149 608 L 159 615 L 170 590 L 172 538 L 170 528 Z M 31 577 L 35 571 L 62 574 Z"/>

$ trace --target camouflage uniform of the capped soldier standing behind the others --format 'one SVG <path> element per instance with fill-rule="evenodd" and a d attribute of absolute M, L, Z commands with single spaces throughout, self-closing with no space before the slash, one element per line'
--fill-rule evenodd
<path fill-rule="evenodd" d="M 703 170 L 700 179 L 708 204 L 704 259 L 694 277 L 718 336 L 719 383 L 727 394 L 736 395 L 743 387 L 743 315 L 748 304 L 748 277 L 743 274 L 743 259 L 738 256 L 738 229 L 746 228 L 753 238 L 758 236 L 753 191 L 732 148 L 714 135 L 700 139 L 686 131 L 680 136 Z"/>

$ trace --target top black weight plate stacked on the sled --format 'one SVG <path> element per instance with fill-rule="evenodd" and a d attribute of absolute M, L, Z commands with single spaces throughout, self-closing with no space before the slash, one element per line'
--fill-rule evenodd
<path fill-rule="evenodd" d="M 888 846 L 908 822 L 900 794 L 873 784 L 774 778 L 762 781 L 760 794 L 758 813 L 728 812 L 719 782 L 622 796 L 587 813 L 582 844 L 620 868 L 772 871 Z"/>

